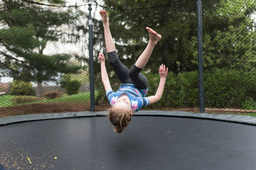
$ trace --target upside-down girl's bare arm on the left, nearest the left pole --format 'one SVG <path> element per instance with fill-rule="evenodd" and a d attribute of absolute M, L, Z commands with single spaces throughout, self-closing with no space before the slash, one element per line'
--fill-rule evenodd
<path fill-rule="evenodd" d="M 108 90 L 111 90 L 112 88 L 109 83 L 108 73 L 107 73 L 107 69 L 105 66 L 105 57 L 102 53 L 99 53 L 98 60 L 100 62 L 101 80 L 102 80 L 104 88 L 107 92 Z"/>

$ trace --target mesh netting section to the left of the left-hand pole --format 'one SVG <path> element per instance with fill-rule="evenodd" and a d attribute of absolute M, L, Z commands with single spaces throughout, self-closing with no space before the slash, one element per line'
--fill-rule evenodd
<path fill-rule="evenodd" d="M 90 110 L 88 7 L 1 4 L 1 117 Z"/>

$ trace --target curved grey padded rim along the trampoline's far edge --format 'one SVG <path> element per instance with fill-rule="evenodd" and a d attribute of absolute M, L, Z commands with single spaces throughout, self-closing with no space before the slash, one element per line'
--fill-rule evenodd
<path fill-rule="evenodd" d="M 20 122 L 29 122 L 36 120 L 51 120 L 59 118 L 76 118 L 76 117 L 97 117 L 106 116 L 108 111 L 80 111 L 71 113 L 43 113 L 33 115 L 20 115 L 13 117 L 0 118 L 0 126 L 8 124 L 16 124 Z M 186 111 L 157 111 L 143 110 L 138 111 L 134 116 L 168 116 L 168 117 L 184 117 L 184 118 L 202 118 L 209 120 L 220 120 L 225 122 L 236 122 L 240 124 L 256 125 L 256 117 L 245 115 L 230 115 L 230 114 L 212 114 L 212 113 L 192 113 Z"/>

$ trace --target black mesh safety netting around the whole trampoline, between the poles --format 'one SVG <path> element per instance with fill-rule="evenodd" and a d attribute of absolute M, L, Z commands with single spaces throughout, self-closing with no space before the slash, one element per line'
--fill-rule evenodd
<path fill-rule="evenodd" d="M 0 1 L 0 117 L 90 111 L 88 6 L 47 6 Z M 131 67 L 152 27 L 163 36 L 143 74 L 148 96 L 159 83 L 158 67 L 169 68 L 164 94 L 145 110 L 199 111 L 196 1 L 106 1 L 116 52 Z M 131 4 L 130 4 L 131 5 Z M 142 8 L 143 6 L 143 8 Z M 126 10 L 124 10 L 126 9 Z M 202 2 L 206 113 L 256 113 L 256 3 Z M 95 111 L 109 108 L 97 53 L 104 49 L 98 13 L 93 15 Z M 120 86 L 106 62 L 113 90 Z"/>

